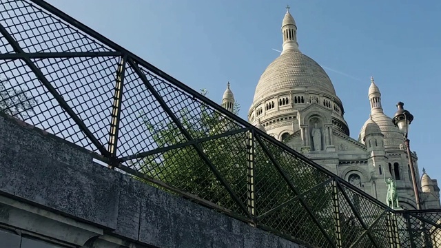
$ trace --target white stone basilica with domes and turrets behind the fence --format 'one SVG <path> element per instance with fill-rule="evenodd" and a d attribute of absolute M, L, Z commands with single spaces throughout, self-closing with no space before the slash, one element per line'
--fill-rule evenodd
<path fill-rule="evenodd" d="M 384 203 L 384 178 L 394 178 L 400 207 L 416 209 L 404 138 L 384 114 L 373 79 L 367 92 L 371 112 L 356 140 L 349 136 L 343 103 L 331 79 L 314 59 L 300 52 L 289 9 L 282 37 L 283 51 L 260 76 L 248 121 Z M 223 106 L 231 111 L 232 105 L 234 96 L 228 85 Z M 426 172 L 420 177 L 416 153 L 412 159 L 416 178 L 420 178 L 422 208 L 440 208 L 437 181 Z"/>

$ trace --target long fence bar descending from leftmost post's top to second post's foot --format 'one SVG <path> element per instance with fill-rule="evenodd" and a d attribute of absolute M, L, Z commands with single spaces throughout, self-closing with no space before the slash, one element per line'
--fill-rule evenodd
<path fill-rule="evenodd" d="M 185 130 L 181 121 L 178 120 L 178 118 L 174 115 L 172 110 L 170 110 L 170 107 L 167 106 L 167 103 L 165 103 L 164 99 L 158 94 L 158 92 L 156 92 L 156 90 L 154 89 L 152 84 L 148 81 L 145 74 L 143 74 L 143 72 L 141 72 L 141 69 L 138 67 L 138 65 L 136 65 L 136 63 L 134 63 L 134 61 L 132 61 L 131 58 L 128 59 L 128 62 L 130 64 L 130 66 L 135 70 L 136 74 L 138 74 L 140 79 L 143 81 L 143 83 L 145 84 L 145 87 L 147 87 L 147 90 L 150 90 L 150 92 L 153 94 L 156 101 L 158 101 L 159 105 L 161 105 L 161 107 L 163 108 L 165 113 L 167 113 L 168 116 L 170 116 L 170 118 L 172 118 L 172 121 L 178 126 L 178 129 L 181 130 L 181 132 L 183 133 L 185 138 L 187 138 L 187 141 L 194 141 L 194 138 L 192 138 L 192 136 L 189 134 L 189 132 L 187 130 Z M 196 149 L 196 152 L 198 153 L 198 155 L 201 156 L 202 160 L 205 163 L 207 163 L 209 168 L 214 173 L 214 176 L 216 176 L 216 178 L 219 180 L 220 184 L 222 184 L 223 187 L 225 187 L 225 189 L 227 189 L 227 192 L 233 198 L 234 202 L 236 202 L 236 204 L 240 207 L 240 209 L 243 211 L 243 213 L 246 214 L 247 216 L 249 216 L 249 218 L 252 218 L 251 213 L 249 213 L 249 211 L 247 211 L 247 207 L 245 207 L 245 204 L 243 204 L 240 201 L 238 196 L 233 192 L 233 189 L 231 187 L 229 187 L 229 185 L 225 181 L 225 178 L 223 178 L 223 176 L 220 175 L 220 173 L 218 172 L 216 167 L 212 164 L 212 161 L 209 160 L 209 158 L 203 152 L 201 147 L 199 147 L 199 145 L 197 143 L 195 143 L 193 145 L 193 147 L 194 147 L 194 149 Z"/>

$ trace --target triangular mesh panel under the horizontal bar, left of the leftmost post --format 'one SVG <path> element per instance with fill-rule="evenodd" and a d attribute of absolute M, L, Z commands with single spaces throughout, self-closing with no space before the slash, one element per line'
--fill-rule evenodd
<path fill-rule="evenodd" d="M 119 58 L 35 59 L 33 62 L 76 116 L 105 145 Z"/>

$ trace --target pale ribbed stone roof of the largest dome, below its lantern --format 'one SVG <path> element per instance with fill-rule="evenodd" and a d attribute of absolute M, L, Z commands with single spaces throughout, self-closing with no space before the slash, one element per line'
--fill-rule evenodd
<path fill-rule="evenodd" d="M 331 79 L 314 59 L 301 52 L 287 50 L 269 64 L 260 76 L 254 93 L 254 102 L 276 90 L 290 90 L 298 87 L 316 88 L 336 95 Z"/>

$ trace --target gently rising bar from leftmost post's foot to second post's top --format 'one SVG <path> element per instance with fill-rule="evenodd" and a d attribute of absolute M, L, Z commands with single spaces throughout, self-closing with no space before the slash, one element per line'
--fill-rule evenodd
<path fill-rule="evenodd" d="M 150 155 L 153 155 L 153 154 L 158 154 L 160 152 L 171 151 L 172 149 L 178 149 L 178 148 L 186 147 L 186 146 L 189 146 L 189 145 L 195 145 L 197 143 L 201 143 L 201 142 L 205 142 L 205 141 L 212 141 L 212 140 L 214 140 L 216 138 L 223 138 L 223 137 L 226 137 L 226 136 L 231 136 L 231 135 L 234 135 L 234 134 L 239 134 L 241 132 L 247 132 L 248 130 L 250 130 L 249 127 L 243 127 L 243 128 L 238 129 L 238 130 L 232 130 L 232 131 L 225 132 L 223 134 L 216 134 L 216 135 L 207 136 L 207 137 L 204 137 L 204 138 L 198 138 L 198 139 L 195 139 L 195 140 L 192 140 L 192 141 L 186 141 L 186 142 L 179 143 L 179 144 L 176 144 L 176 145 L 170 145 L 170 146 L 167 146 L 167 147 L 160 147 L 160 148 L 152 149 L 152 150 L 147 151 L 147 152 L 140 152 L 139 154 L 134 154 L 134 155 L 130 155 L 130 156 L 124 156 L 122 158 L 118 158 L 118 161 L 121 163 L 121 162 L 129 161 L 129 160 L 132 160 L 132 159 L 135 159 L 135 158 L 143 158 L 145 156 L 150 156 Z"/>

